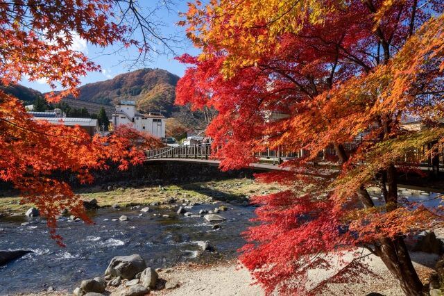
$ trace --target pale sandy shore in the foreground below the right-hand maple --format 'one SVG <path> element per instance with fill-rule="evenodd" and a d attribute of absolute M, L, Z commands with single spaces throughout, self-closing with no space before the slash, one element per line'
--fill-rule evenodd
<path fill-rule="evenodd" d="M 421 252 L 411 254 L 416 270 L 423 282 L 426 282 L 432 267 L 438 259 L 437 255 Z M 377 292 L 383 295 L 403 295 L 395 279 L 386 269 L 384 263 L 376 257 L 368 259 L 370 270 L 378 277 L 366 277 L 360 283 L 331 285 L 321 295 L 367 295 Z M 420 262 L 420 263 L 417 263 Z M 264 295 L 257 285 L 252 285 L 253 279 L 245 268 L 238 268 L 236 262 L 216 266 L 180 265 L 176 268 L 160 272 L 160 277 L 169 281 L 171 286 L 178 283 L 178 288 L 155 292 L 155 295 Z M 310 277 L 314 281 L 327 277 L 324 270 L 313 272 Z"/>

